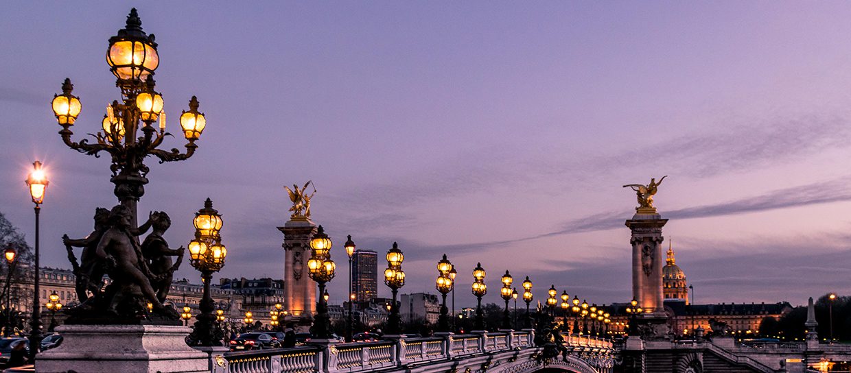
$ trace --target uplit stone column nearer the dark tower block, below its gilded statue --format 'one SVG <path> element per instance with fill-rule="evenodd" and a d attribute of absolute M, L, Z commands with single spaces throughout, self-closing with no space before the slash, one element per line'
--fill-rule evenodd
<path fill-rule="evenodd" d="M 291 218 L 277 229 L 283 232 L 285 255 L 284 308 L 289 314 L 284 322 L 309 320 L 316 313 L 317 284 L 307 274 L 307 260 L 311 257 L 310 241 L 317 232 L 317 226 L 309 218 L 299 217 Z"/>

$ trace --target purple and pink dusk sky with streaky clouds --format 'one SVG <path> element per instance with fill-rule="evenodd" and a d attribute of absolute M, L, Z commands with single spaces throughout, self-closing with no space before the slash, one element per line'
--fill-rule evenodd
<path fill-rule="evenodd" d="M 171 246 L 210 197 L 224 214 L 216 277 L 283 276 L 284 184 L 313 180 L 346 294 L 346 235 L 406 254 L 403 292 L 459 268 L 529 275 L 588 302 L 631 297 L 623 184 L 656 195 L 697 302 L 848 295 L 851 4 L 842 2 L 5 3 L 0 15 L 0 212 L 32 242 L 23 179 L 49 170 L 43 264 L 112 206 L 108 157 L 66 148 L 49 108 L 71 77 L 95 133 L 119 99 L 104 54 L 131 7 L 157 35 L 170 130 L 197 95 L 195 156 L 160 165 L 140 216 Z M 184 140 L 166 141 L 182 148 Z M 382 262 L 383 267 L 385 263 Z M 185 263 L 180 277 L 198 281 Z M 388 294 L 380 286 L 382 295 Z"/>

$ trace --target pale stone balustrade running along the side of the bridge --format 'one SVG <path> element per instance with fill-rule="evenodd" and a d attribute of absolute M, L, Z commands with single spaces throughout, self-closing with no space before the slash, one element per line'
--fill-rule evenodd
<path fill-rule="evenodd" d="M 588 336 L 564 336 L 568 345 L 588 351 L 612 343 Z M 227 373 L 355 373 L 406 367 L 467 356 L 535 348 L 534 331 L 446 334 L 382 342 L 336 343 L 225 353 Z"/>

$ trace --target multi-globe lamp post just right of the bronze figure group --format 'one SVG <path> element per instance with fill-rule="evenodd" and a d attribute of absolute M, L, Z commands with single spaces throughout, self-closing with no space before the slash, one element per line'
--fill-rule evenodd
<path fill-rule="evenodd" d="M 204 284 L 203 296 L 198 303 L 195 329 L 189 336 L 191 346 L 221 346 L 224 333 L 215 322 L 215 302 L 210 294 L 213 274 L 225 266 L 227 248 L 221 244 L 221 215 L 213 208 L 213 201 L 204 201 L 204 207 L 195 213 L 195 240 L 189 242 L 189 263 L 199 272 Z"/>

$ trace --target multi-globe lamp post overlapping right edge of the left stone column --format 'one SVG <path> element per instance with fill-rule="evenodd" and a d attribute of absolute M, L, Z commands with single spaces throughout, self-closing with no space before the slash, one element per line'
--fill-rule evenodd
<path fill-rule="evenodd" d="M 325 284 L 334 279 L 334 271 L 337 264 L 331 260 L 331 246 L 334 243 L 322 225 L 317 229 L 316 235 L 311 239 L 311 258 L 307 260 L 307 271 L 311 279 L 319 285 L 319 294 L 322 296 L 317 301 L 317 317 L 313 320 L 311 333 L 317 339 L 331 339 L 331 318 L 328 316 L 328 301 L 325 298 Z"/>

